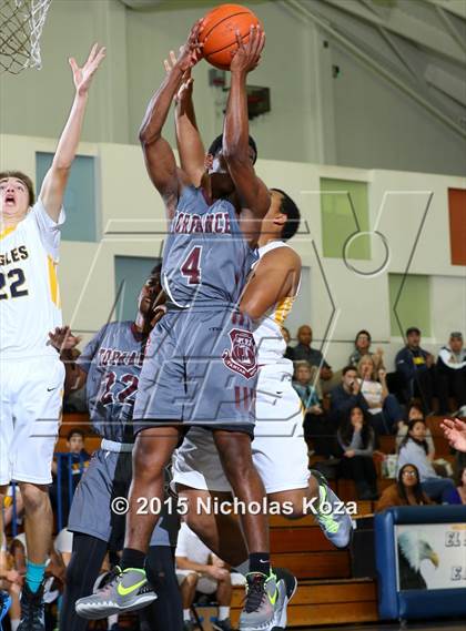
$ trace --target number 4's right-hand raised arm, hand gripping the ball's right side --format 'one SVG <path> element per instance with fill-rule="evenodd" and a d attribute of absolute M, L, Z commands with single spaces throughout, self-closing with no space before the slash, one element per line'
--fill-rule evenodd
<path fill-rule="evenodd" d="M 265 33 L 252 27 L 244 45 L 236 33 L 237 51 L 230 67 L 232 79 L 223 130 L 223 154 L 242 203 L 255 218 L 262 218 L 270 207 L 270 193 L 257 177 L 249 152 L 249 120 L 246 77 L 254 70 L 265 44 Z"/>

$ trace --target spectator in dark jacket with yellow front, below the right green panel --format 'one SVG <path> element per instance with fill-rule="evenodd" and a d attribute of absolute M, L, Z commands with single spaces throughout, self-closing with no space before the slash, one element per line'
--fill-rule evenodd
<path fill-rule="evenodd" d="M 419 397 L 424 414 L 432 410 L 434 356 L 421 348 L 421 330 L 412 326 L 406 330 L 406 346 L 395 358 L 406 403 Z"/>

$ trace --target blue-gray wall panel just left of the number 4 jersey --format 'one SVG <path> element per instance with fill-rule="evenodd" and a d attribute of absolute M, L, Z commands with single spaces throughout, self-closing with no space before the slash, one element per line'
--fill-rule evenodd
<path fill-rule="evenodd" d="M 151 269 L 160 263 L 160 258 L 115 256 L 115 319 L 134 319 L 141 287 Z"/>

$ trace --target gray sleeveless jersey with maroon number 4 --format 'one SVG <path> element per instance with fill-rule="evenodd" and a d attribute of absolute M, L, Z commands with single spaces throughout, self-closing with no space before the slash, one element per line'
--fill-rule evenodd
<path fill-rule="evenodd" d="M 163 253 L 170 301 L 180 307 L 235 305 L 256 258 L 231 202 L 210 206 L 201 189 L 183 189 Z"/>

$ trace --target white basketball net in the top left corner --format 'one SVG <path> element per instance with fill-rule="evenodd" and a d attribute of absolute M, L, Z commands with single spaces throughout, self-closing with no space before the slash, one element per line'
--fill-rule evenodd
<path fill-rule="evenodd" d="M 40 35 L 51 1 L 0 0 L 0 72 L 40 70 Z"/>

